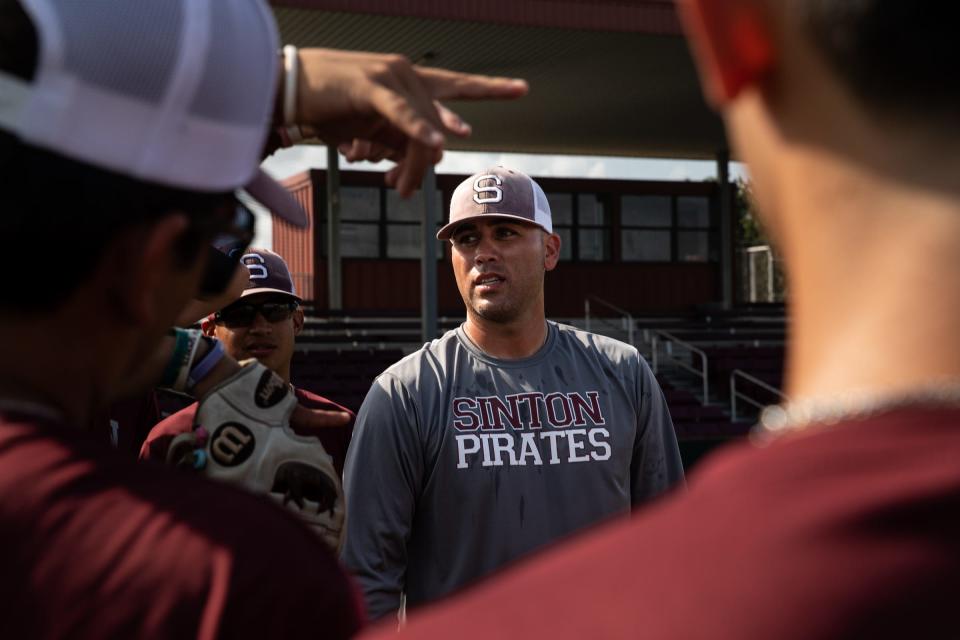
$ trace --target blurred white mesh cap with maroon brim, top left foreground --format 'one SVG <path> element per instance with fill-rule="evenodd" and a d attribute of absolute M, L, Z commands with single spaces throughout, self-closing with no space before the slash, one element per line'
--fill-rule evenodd
<path fill-rule="evenodd" d="M 0 129 L 146 182 L 245 189 L 306 225 L 260 169 L 278 37 L 261 0 L 20 0 L 37 31 L 32 81 L 0 72 Z"/>

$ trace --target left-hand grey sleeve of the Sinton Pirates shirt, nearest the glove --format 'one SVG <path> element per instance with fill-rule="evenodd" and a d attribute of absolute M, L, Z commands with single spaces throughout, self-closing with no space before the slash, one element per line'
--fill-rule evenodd
<path fill-rule="evenodd" d="M 383 374 L 360 407 L 347 452 L 341 560 L 359 583 L 371 620 L 400 608 L 407 543 L 424 475 L 419 422 L 406 388 Z"/>

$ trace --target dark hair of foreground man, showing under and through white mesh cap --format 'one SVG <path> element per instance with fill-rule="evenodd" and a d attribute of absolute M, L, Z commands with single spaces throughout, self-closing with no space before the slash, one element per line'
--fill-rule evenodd
<path fill-rule="evenodd" d="M 0 69 L 30 80 L 37 36 L 15 0 L 0 0 Z M 178 241 L 175 259 L 193 264 L 212 240 L 210 225 L 232 193 L 199 193 L 143 182 L 25 144 L 0 131 L 3 212 L 0 263 L 23 271 L 5 278 L 0 311 L 55 309 L 94 271 L 121 233 L 155 223 L 172 211 L 194 224 Z M 36 266 L 47 262 L 57 267 Z"/>

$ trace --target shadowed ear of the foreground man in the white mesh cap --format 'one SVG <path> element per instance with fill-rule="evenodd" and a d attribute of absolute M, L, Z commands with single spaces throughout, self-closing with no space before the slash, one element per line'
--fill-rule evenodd
<path fill-rule="evenodd" d="M 175 282 L 174 245 L 189 224 L 182 214 L 165 216 L 125 235 L 110 252 L 104 267 L 112 272 L 111 298 L 126 320 L 148 324 L 166 311 L 170 292 L 164 289 Z"/>

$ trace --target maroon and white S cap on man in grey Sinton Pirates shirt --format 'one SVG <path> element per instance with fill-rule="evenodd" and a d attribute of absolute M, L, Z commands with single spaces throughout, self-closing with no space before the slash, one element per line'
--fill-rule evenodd
<path fill-rule="evenodd" d="M 506 167 L 491 167 L 476 173 L 454 190 L 450 198 L 450 221 L 437 232 L 449 240 L 464 222 L 496 216 L 535 224 L 553 233 L 547 196 L 530 176 Z"/>

